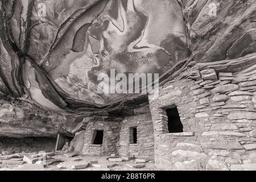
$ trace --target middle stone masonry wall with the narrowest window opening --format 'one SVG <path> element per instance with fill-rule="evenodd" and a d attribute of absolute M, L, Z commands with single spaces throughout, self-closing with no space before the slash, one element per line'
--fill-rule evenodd
<path fill-rule="evenodd" d="M 121 156 L 135 156 L 140 159 L 154 159 L 154 129 L 150 110 L 148 113 L 133 115 L 121 123 L 119 150 Z M 137 127 L 137 144 L 130 142 L 131 127 Z"/>

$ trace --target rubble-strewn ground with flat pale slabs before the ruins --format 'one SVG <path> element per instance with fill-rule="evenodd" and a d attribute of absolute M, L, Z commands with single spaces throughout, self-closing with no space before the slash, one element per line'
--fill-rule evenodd
<path fill-rule="evenodd" d="M 44 160 L 46 158 L 46 160 Z M 110 156 L 82 156 L 75 153 L 0 155 L 0 171 L 152 171 L 153 161 Z M 42 160 L 43 159 L 43 160 Z"/>

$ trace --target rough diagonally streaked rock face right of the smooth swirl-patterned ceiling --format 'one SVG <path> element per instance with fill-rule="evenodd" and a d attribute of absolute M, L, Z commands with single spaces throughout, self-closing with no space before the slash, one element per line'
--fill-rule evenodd
<path fill-rule="evenodd" d="M 246 0 L 183 1 L 193 58 L 205 63 L 255 53 L 255 6 Z"/>

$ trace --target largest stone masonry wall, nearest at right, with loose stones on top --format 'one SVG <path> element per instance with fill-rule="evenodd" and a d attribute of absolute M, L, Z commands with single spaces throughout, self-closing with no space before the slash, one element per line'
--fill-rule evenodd
<path fill-rule="evenodd" d="M 167 82 L 150 100 L 155 164 L 163 170 L 256 169 L 256 77 L 196 72 Z M 166 109 L 177 106 L 183 133 L 168 133 Z"/>

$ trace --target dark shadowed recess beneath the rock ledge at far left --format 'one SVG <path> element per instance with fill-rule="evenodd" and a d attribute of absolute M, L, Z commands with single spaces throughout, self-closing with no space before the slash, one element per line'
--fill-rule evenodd
<path fill-rule="evenodd" d="M 55 138 L 0 138 L 0 154 L 2 151 L 52 152 L 55 150 L 55 144 Z"/>

